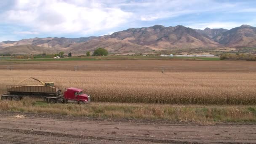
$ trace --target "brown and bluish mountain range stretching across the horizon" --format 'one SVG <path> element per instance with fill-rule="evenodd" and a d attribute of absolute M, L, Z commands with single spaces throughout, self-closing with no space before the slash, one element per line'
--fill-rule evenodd
<path fill-rule="evenodd" d="M 192 29 L 178 25 L 164 27 L 130 28 L 112 35 L 99 37 L 46 37 L 19 41 L 3 41 L 0 53 L 65 53 L 84 54 L 96 48 L 106 48 L 109 53 L 148 53 L 172 48 L 236 48 L 256 47 L 256 27 L 242 25 L 233 29 Z"/>

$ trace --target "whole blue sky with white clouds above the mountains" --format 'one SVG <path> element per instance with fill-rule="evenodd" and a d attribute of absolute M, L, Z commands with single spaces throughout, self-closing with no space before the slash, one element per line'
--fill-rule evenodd
<path fill-rule="evenodd" d="M 128 28 L 256 27 L 256 0 L 0 0 L 0 41 L 88 37 Z"/>

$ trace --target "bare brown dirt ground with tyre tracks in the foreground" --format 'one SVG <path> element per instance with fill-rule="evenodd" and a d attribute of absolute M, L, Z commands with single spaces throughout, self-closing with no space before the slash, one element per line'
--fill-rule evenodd
<path fill-rule="evenodd" d="M 255 143 L 256 125 L 76 120 L 0 112 L 1 144 Z M 53 115 L 54 117 L 54 115 Z"/>

